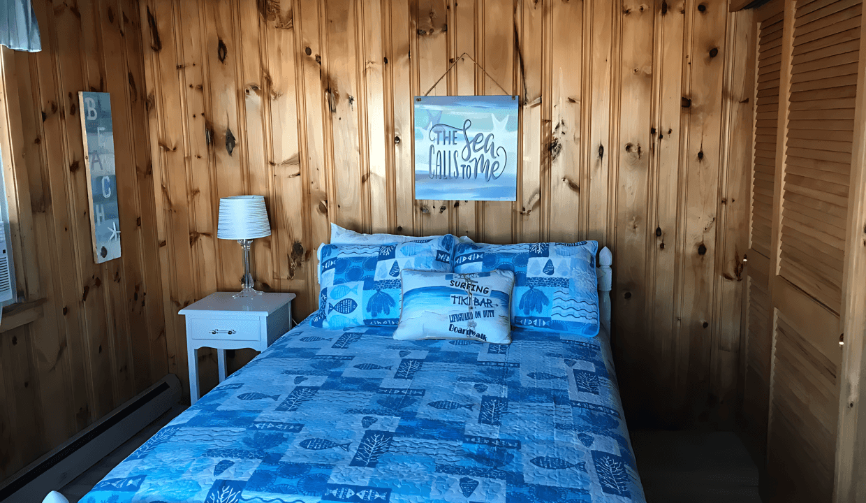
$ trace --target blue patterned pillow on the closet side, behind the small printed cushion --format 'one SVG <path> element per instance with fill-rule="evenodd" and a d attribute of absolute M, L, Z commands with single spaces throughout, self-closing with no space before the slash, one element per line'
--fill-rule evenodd
<path fill-rule="evenodd" d="M 511 322 L 585 337 L 598 334 L 598 242 L 461 243 L 454 272 L 514 271 Z"/>

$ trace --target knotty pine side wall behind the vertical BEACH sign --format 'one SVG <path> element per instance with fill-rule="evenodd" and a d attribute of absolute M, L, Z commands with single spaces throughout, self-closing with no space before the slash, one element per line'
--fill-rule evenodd
<path fill-rule="evenodd" d="M 0 324 L 0 480 L 168 371 L 139 4 L 33 7 L 42 52 L 3 48 L 0 60 L 0 149 L 24 300 Z M 91 251 L 78 110 L 87 90 L 112 100 L 123 256 L 102 265 Z"/>

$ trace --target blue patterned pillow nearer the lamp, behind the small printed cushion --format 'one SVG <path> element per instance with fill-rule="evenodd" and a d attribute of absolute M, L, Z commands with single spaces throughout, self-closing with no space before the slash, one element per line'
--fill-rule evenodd
<path fill-rule="evenodd" d="M 321 245 L 313 326 L 397 326 L 403 269 L 450 272 L 455 243 L 453 235 L 442 235 L 372 246 Z"/>

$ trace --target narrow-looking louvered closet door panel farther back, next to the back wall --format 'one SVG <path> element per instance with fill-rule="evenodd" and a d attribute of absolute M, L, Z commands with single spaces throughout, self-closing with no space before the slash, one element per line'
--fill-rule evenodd
<path fill-rule="evenodd" d="M 782 61 L 782 3 L 767 3 L 758 12 L 757 89 L 755 100 L 752 204 L 747 275 L 748 318 L 743 413 L 759 435 L 766 433 L 770 391 L 772 308 L 770 248 L 772 247 L 773 177 L 779 134 L 779 75 Z"/>

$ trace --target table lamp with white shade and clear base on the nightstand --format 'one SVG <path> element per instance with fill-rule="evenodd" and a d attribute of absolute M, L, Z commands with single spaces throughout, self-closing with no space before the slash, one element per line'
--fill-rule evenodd
<path fill-rule="evenodd" d="M 270 235 L 268 209 L 262 196 L 221 197 L 216 237 L 236 239 L 243 250 L 243 288 L 234 297 L 253 297 L 262 292 L 255 290 L 253 275 L 249 274 L 249 247 L 257 237 Z"/>

